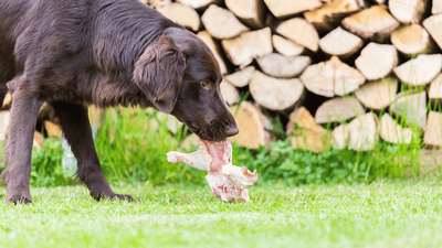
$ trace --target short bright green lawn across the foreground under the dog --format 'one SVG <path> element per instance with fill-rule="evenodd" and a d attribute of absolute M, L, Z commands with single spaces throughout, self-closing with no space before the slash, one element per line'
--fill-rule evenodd
<path fill-rule="evenodd" d="M 96 203 L 83 186 L 32 188 L 30 206 L 1 197 L 0 247 L 442 245 L 439 183 L 260 185 L 249 204 L 220 203 L 202 186 L 115 190 L 139 201 Z"/>

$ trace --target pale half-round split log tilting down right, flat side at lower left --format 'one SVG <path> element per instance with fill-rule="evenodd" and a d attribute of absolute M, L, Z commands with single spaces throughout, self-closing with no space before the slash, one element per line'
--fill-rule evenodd
<path fill-rule="evenodd" d="M 295 43 L 316 52 L 319 45 L 319 35 L 311 23 L 302 18 L 293 18 L 282 22 L 276 32 Z"/>

